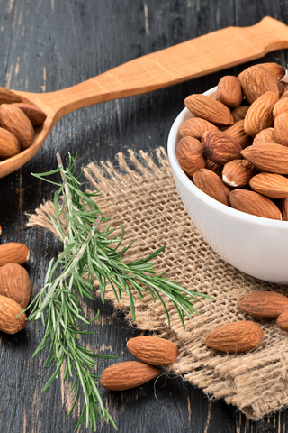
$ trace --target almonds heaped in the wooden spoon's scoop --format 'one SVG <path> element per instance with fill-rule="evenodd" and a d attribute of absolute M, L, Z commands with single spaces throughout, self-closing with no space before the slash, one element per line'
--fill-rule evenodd
<path fill-rule="evenodd" d="M 34 141 L 35 128 L 46 117 L 34 103 L 24 102 L 8 88 L 0 88 L 0 161 L 28 149 Z"/>

